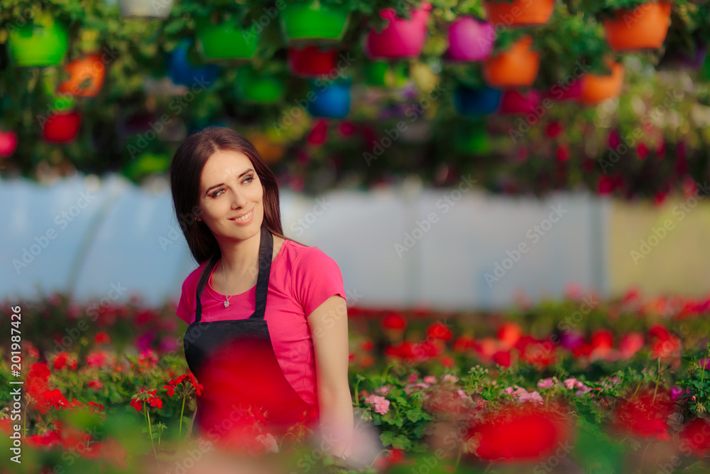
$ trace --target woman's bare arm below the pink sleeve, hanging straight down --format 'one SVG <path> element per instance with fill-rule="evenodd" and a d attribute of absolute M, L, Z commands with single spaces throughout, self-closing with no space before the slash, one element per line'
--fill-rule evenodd
<path fill-rule="evenodd" d="M 308 316 L 315 351 L 324 450 L 351 453 L 353 404 L 348 383 L 348 315 L 345 300 L 331 296 Z"/>

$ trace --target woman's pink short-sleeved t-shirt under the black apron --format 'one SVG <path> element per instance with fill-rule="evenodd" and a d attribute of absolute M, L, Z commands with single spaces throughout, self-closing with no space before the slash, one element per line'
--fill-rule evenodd
<path fill-rule="evenodd" d="M 195 321 L 197 281 L 206 265 L 202 263 L 182 283 L 177 313 L 187 324 Z M 256 306 L 256 285 L 230 296 L 225 308 L 225 296 L 212 288 L 212 274 L 202 291 L 202 321 L 249 318 Z M 307 316 L 333 295 L 346 299 L 334 260 L 317 247 L 286 239 L 271 262 L 264 321 L 283 375 L 303 401 L 314 406 L 318 404 L 315 356 Z"/>

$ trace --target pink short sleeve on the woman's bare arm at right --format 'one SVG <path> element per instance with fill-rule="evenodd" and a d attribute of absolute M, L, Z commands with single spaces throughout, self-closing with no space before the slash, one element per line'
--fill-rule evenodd
<path fill-rule="evenodd" d="M 338 264 L 317 247 L 306 247 L 295 259 L 291 291 L 306 317 L 331 296 L 347 301 Z"/>

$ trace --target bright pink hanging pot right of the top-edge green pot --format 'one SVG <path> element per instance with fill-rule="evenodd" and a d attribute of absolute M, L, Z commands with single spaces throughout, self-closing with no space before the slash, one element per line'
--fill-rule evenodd
<path fill-rule="evenodd" d="M 370 59 L 415 58 L 427 39 L 427 21 L 432 5 L 423 2 L 410 19 L 398 18 L 395 10 L 385 9 L 380 16 L 388 20 L 381 33 L 371 28 L 365 37 L 365 54 Z"/>

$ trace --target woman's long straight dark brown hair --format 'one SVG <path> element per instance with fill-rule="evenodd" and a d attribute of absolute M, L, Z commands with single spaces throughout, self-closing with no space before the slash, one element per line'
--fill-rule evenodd
<path fill-rule="evenodd" d="M 264 217 L 263 224 L 285 239 L 281 227 L 278 181 L 259 152 L 239 132 L 224 126 L 208 126 L 192 134 L 180 144 L 170 163 L 170 191 L 173 193 L 173 207 L 178 223 L 190 247 L 192 257 L 198 264 L 207 261 L 214 253 L 220 252 L 217 239 L 203 222 L 200 215 L 200 176 L 207 158 L 219 150 L 233 150 L 244 153 L 254 166 L 254 171 L 263 186 Z"/>

